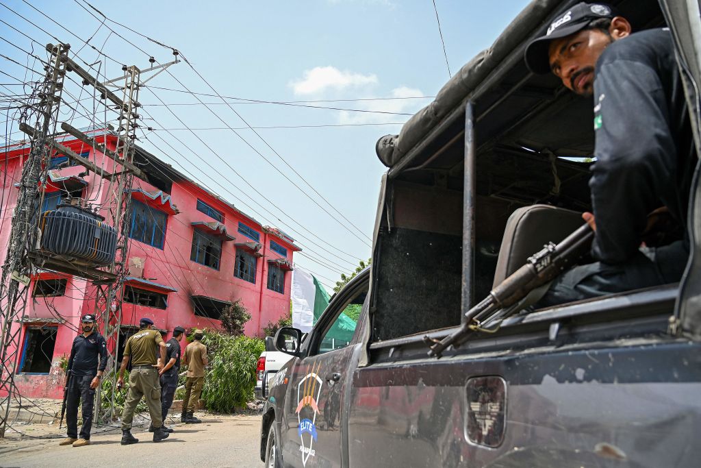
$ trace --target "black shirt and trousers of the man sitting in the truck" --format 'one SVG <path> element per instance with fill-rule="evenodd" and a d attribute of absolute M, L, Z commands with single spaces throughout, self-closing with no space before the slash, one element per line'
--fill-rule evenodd
<path fill-rule="evenodd" d="M 688 260 L 688 234 L 640 248 L 646 215 L 660 206 L 687 232 L 697 161 L 669 30 L 637 32 L 609 45 L 597 61 L 593 98 L 592 256 L 599 261 L 560 276 L 539 306 L 676 283 Z"/>

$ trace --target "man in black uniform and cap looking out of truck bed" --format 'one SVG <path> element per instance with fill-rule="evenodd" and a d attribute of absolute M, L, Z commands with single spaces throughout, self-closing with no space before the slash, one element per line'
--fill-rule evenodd
<path fill-rule="evenodd" d="M 674 44 L 668 29 L 632 34 L 606 4 L 580 3 L 557 15 L 526 48 L 526 65 L 552 72 L 593 97 L 596 162 L 590 189 L 595 263 L 556 279 L 536 307 L 675 283 L 689 255 L 684 239 L 641 246 L 648 213 L 664 206 L 686 233 L 697 161 Z"/>

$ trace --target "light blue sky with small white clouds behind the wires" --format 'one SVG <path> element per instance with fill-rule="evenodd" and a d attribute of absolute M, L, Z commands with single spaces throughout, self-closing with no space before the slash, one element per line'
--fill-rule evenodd
<path fill-rule="evenodd" d="M 432 0 L 88 1 L 109 20 L 177 48 L 192 65 L 174 65 L 142 89 L 139 102 L 144 116 L 150 116 L 144 126 L 154 130 L 142 132 L 139 145 L 260 222 L 297 239 L 304 251 L 296 255 L 296 265 L 318 276 L 328 289 L 358 259 L 369 258 L 385 171 L 375 143 L 382 135 L 398 133 L 400 125 L 387 124 L 406 121 L 407 114 L 430 102 L 417 97 L 435 95 L 449 79 Z M 528 3 L 435 0 L 451 72 L 489 47 Z M 79 58 L 109 78 L 122 74 L 121 65 L 97 51 L 142 69 L 150 66 L 151 55 L 157 63 L 173 60 L 170 48 L 115 22 L 102 24 L 103 19 L 83 0 L 0 0 L 0 20 L 41 44 L 55 40 L 49 34 L 68 42 Z M 44 57 L 41 46 L 8 25 L 0 23 L 0 37 L 6 40 L 0 41 L 0 53 L 41 72 L 17 48 L 33 47 Z M 0 58 L 0 71 L 22 81 L 25 72 L 31 76 L 5 58 Z M 22 93 L 6 74 L 0 74 L 3 102 L 8 99 L 4 95 Z M 80 95 L 74 86 L 70 92 L 82 100 L 92 89 Z M 236 99 L 224 105 L 217 93 L 294 105 Z M 405 99 L 368 100 L 377 98 Z M 201 105 L 198 99 L 211 104 Z M 309 102 L 320 100 L 334 101 Z M 90 112 L 76 106 L 78 111 L 92 118 L 92 100 L 81 104 Z M 70 109 L 63 109 L 62 119 L 69 119 Z M 104 121 L 104 112 L 96 120 Z M 87 126 L 90 121 L 75 115 L 73 124 Z M 16 124 L 12 131 L 17 131 Z"/>

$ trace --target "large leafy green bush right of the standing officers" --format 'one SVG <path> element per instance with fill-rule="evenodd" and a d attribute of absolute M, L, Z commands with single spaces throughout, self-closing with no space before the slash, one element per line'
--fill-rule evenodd
<path fill-rule="evenodd" d="M 209 368 L 202 399 L 208 410 L 231 413 L 253 399 L 256 363 L 265 345 L 260 338 L 224 335 L 205 330 Z"/>

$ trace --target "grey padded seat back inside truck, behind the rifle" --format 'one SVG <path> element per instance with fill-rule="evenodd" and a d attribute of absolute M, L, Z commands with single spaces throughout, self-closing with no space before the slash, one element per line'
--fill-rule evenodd
<path fill-rule="evenodd" d="M 583 225 L 581 213 L 550 205 L 518 208 L 509 216 L 494 272 L 494 288 L 548 242 L 558 243 Z"/>

